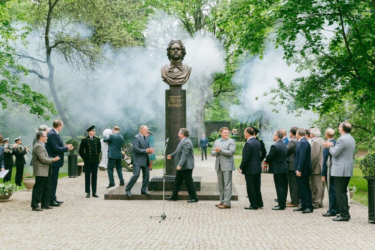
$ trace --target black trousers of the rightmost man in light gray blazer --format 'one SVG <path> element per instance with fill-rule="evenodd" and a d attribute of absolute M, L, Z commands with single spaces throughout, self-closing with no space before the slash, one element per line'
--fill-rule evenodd
<path fill-rule="evenodd" d="M 338 206 L 338 214 L 349 217 L 349 206 L 347 189 L 351 177 L 335 176 L 336 185 L 336 201 Z"/>

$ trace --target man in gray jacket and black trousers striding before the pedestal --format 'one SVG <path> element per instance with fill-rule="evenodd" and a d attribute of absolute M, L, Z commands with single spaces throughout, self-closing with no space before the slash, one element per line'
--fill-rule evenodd
<path fill-rule="evenodd" d="M 187 192 L 190 195 L 191 202 L 198 202 L 198 196 L 196 195 L 195 186 L 193 183 L 193 169 L 194 169 L 194 150 L 193 143 L 189 138 L 189 130 L 181 128 L 178 132 L 180 143 L 176 150 L 167 156 L 167 159 L 174 159 L 174 165 L 176 166 L 177 172 L 173 183 L 172 195 L 166 197 L 166 200 L 177 201 L 177 195 L 180 191 L 182 183 L 185 181 Z"/>

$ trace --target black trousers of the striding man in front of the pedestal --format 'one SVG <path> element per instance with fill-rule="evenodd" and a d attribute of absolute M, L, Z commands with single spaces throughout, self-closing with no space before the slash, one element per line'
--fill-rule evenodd
<path fill-rule="evenodd" d="M 193 183 L 193 169 L 178 170 L 176 172 L 176 177 L 174 179 L 172 187 L 172 197 L 177 199 L 178 192 L 180 191 L 181 185 L 185 182 L 187 193 L 189 193 L 190 198 L 198 200 L 196 195 L 195 186 Z"/>

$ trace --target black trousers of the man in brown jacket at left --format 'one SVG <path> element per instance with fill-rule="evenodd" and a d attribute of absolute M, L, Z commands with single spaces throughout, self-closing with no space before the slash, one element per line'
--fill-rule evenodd
<path fill-rule="evenodd" d="M 31 195 L 31 207 L 39 207 L 39 199 L 42 196 L 42 208 L 49 206 L 49 199 L 51 195 L 51 175 L 48 176 L 36 176 L 35 184 L 33 187 L 33 193 Z"/>

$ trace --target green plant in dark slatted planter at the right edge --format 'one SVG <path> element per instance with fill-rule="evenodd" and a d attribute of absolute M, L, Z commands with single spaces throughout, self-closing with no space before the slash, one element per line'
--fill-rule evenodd
<path fill-rule="evenodd" d="M 375 221 L 375 152 L 368 153 L 359 163 L 363 178 L 367 180 L 369 222 Z"/>

